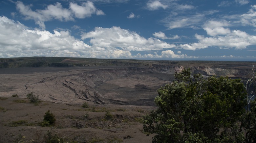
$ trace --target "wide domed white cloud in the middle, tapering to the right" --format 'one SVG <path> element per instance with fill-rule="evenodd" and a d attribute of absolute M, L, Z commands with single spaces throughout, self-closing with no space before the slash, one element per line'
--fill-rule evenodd
<path fill-rule="evenodd" d="M 81 35 L 82 39 L 90 39 L 93 47 L 102 49 L 121 48 L 124 51 L 150 51 L 174 48 L 174 44 L 168 44 L 155 38 L 145 39 L 136 32 L 131 32 L 120 27 L 112 28 L 96 27 L 94 31 Z"/>

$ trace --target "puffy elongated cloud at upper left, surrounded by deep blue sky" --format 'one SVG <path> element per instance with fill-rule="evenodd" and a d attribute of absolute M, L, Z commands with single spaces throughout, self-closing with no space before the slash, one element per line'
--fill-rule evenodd
<path fill-rule="evenodd" d="M 104 15 L 104 12 L 97 9 L 90 1 L 82 3 L 81 6 L 76 3 L 70 3 L 69 9 L 63 8 L 61 3 L 55 5 L 48 5 L 45 9 L 31 9 L 32 5 L 25 6 L 21 1 L 16 2 L 16 8 L 25 16 L 27 20 L 34 20 L 41 29 L 45 29 L 44 22 L 51 21 L 53 19 L 59 21 L 74 21 L 75 18 L 91 17 L 92 14 Z"/>

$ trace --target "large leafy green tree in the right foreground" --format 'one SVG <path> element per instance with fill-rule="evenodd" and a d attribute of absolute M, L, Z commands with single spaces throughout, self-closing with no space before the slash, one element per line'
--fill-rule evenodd
<path fill-rule="evenodd" d="M 158 109 L 143 117 L 144 132 L 155 133 L 155 143 L 243 142 L 247 92 L 241 80 L 190 74 L 175 73 L 178 81 L 158 89 Z"/>

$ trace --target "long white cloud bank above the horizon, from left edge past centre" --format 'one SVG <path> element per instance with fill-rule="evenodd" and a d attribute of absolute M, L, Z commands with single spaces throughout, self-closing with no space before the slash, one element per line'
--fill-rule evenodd
<path fill-rule="evenodd" d="M 79 28 L 74 26 L 74 28 Z M 136 32 L 120 27 L 100 28 L 84 33 L 82 39 L 90 39 L 91 45 L 71 36 L 69 30 L 30 29 L 27 26 L 0 16 L 1 57 L 67 56 L 91 58 L 182 58 L 173 51 L 174 44 L 156 38 L 145 39 Z M 167 49 L 167 50 L 165 50 Z M 163 50 L 161 55 L 132 55 L 132 51 Z"/>

